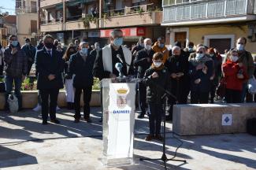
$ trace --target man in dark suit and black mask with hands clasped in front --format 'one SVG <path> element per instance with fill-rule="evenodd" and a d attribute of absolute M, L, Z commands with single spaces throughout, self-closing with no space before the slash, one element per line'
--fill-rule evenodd
<path fill-rule="evenodd" d="M 59 124 L 56 119 L 56 106 L 59 89 L 63 88 L 61 72 L 64 61 L 61 53 L 54 48 L 54 38 L 51 35 L 43 37 L 44 47 L 35 55 L 35 68 L 38 72 L 37 88 L 42 99 L 43 124 L 47 124 L 50 96 L 50 122 Z"/>

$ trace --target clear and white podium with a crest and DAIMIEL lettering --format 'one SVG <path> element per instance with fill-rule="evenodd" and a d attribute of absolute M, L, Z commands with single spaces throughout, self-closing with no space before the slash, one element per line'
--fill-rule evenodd
<path fill-rule="evenodd" d="M 135 79 L 102 79 L 102 164 L 133 164 Z"/>

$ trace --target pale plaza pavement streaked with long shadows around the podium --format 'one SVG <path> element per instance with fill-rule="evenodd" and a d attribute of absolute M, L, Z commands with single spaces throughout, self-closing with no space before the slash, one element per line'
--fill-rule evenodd
<path fill-rule="evenodd" d="M 86 169 L 150 170 L 164 169 L 162 161 L 139 161 L 160 158 L 162 143 L 146 142 L 147 117 L 135 120 L 135 164 L 104 167 L 102 157 L 102 124 L 99 108 L 91 109 L 92 124 L 73 123 L 73 113 L 58 111 L 61 124 L 43 126 L 40 113 L 0 112 L 0 169 Z M 247 134 L 176 136 L 167 123 L 166 154 L 187 163 L 168 161 L 168 169 L 256 169 L 256 137 Z M 179 140 L 176 139 L 179 138 Z"/>

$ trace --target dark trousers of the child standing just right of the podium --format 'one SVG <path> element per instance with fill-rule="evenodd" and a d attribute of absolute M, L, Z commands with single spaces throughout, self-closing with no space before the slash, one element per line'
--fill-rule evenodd
<path fill-rule="evenodd" d="M 150 135 L 159 135 L 161 130 L 161 116 L 163 116 L 163 106 L 149 103 Z"/>

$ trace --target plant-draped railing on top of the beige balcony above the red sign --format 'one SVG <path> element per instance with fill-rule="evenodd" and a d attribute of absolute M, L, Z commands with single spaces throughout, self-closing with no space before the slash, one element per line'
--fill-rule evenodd
<path fill-rule="evenodd" d="M 126 16 L 129 14 L 135 14 L 135 13 L 146 13 L 154 10 L 161 10 L 158 8 L 158 6 L 155 6 L 154 3 L 142 5 L 142 6 L 132 6 L 132 7 L 125 7 L 122 9 L 112 9 L 104 11 L 103 15 L 108 15 L 109 17 L 115 17 L 115 16 Z"/>

